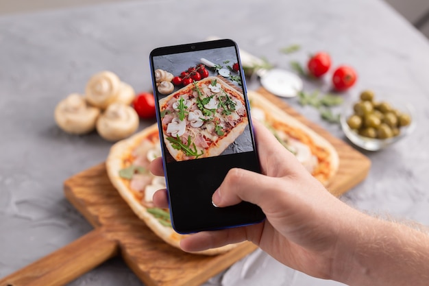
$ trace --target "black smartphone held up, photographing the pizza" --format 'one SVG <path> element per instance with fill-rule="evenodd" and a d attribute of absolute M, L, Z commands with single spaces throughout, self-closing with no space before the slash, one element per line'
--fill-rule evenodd
<path fill-rule="evenodd" d="M 230 169 L 260 173 L 236 43 L 224 39 L 159 47 L 149 62 L 175 231 L 262 222 L 265 215 L 255 204 L 212 204 L 212 194 Z"/>

